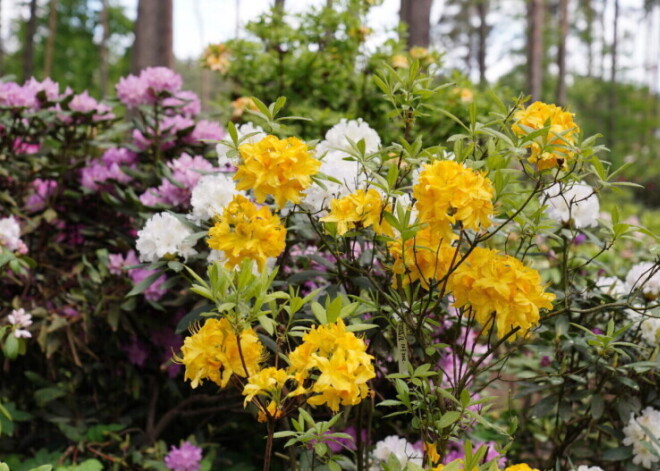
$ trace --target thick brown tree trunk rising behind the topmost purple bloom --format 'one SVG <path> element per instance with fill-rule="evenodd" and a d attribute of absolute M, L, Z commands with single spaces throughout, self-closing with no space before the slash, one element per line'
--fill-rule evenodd
<path fill-rule="evenodd" d="M 174 67 L 172 0 L 140 0 L 135 22 L 133 73 L 145 67 Z"/>

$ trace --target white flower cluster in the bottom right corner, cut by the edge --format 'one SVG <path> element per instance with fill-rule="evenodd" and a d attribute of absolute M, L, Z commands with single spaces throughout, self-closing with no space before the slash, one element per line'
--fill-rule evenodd
<path fill-rule="evenodd" d="M 655 437 L 655 440 L 644 429 Z M 628 425 L 623 428 L 623 433 L 626 436 L 623 444 L 633 447 L 633 463 L 647 469 L 658 469 L 654 463 L 660 462 L 658 457 L 660 446 L 657 445 L 657 441 L 660 440 L 660 411 L 647 407 L 637 418 L 631 414 Z M 655 453 L 651 451 L 652 449 Z"/>

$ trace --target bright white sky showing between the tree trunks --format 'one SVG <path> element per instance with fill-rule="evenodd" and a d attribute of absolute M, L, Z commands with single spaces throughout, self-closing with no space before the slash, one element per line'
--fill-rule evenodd
<path fill-rule="evenodd" d="M 131 17 L 135 17 L 138 0 L 119 0 L 126 7 Z M 572 3 L 581 0 L 572 0 Z M 625 46 L 619 55 L 620 77 L 637 83 L 652 84 L 660 91 L 660 76 L 651 81 L 645 69 L 660 60 L 660 38 L 655 42 L 645 42 L 644 28 L 654 22 L 656 31 L 660 30 L 660 12 L 654 18 L 642 20 L 641 6 L 644 0 L 620 0 L 622 8 L 620 21 L 621 37 L 626 37 Z M 179 59 L 198 58 L 204 47 L 213 42 L 222 42 L 236 37 L 238 23 L 239 35 L 245 32 L 240 27 L 268 9 L 273 0 L 174 0 L 174 53 Z M 26 16 L 25 8 L 19 5 L 22 0 L 2 0 L 2 37 L 4 43 L 11 44 L 8 38 L 10 19 L 18 15 Z M 497 0 L 499 10 L 488 17 L 488 22 L 495 25 L 490 38 L 487 56 L 487 78 L 496 80 L 514 65 L 524 61 L 522 55 L 512 55 L 511 50 L 524 47 L 524 21 L 507 21 L 509 17 L 525 15 L 523 0 Z M 611 2 L 607 2 L 611 4 Z M 310 6 L 325 4 L 325 0 L 286 0 L 286 9 L 300 12 Z M 400 0 L 384 0 L 382 5 L 374 7 L 367 19 L 367 24 L 374 30 L 371 45 L 382 42 L 392 35 L 398 21 Z M 238 7 L 238 11 L 237 11 Z M 436 24 L 441 15 L 446 13 L 444 0 L 435 0 L 431 13 L 431 24 Z M 606 11 L 605 36 L 612 36 L 613 11 Z M 369 46 L 369 44 L 367 44 Z M 461 51 L 445 51 L 450 65 L 463 66 Z M 586 72 L 586 48 L 577 38 L 569 40 L 568 69 L 579 73 Z M 609 68 L 609 59 L 603 66 Z M 476 71 L 475 71 L 476 73 Z M 657 75 L 657 74 L 656 74 Z M 472 77 L 473 79 L 476 77 Z"/>

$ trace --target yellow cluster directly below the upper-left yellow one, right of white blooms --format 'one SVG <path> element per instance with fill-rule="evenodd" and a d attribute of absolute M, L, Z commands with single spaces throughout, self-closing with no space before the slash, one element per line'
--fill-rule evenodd
<path fill-rule="evenodd" d="M 277 257 L 286 246 L 286 228 L 268 207 L 257 206 L 242 195 L 234 196 L 209 229 L 208 245 L 227 257 L 227 268 L 249 258 L 263 271 L 268 257 Z"/>

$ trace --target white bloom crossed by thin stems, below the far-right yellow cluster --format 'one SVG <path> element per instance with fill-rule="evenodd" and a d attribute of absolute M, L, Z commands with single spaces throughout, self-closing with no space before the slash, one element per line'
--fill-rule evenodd
<path fill-rule="evenodd" d="M 547 206 L 546 214 L 557 222 L 569 223 L 577 229 L 598 224 L 600 204 L 594 189 L 580 182 L 570 186 L 555 183 L 545 190 L 541 203 Z"/>

